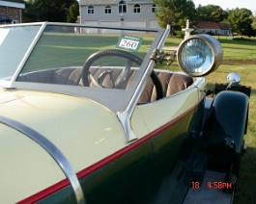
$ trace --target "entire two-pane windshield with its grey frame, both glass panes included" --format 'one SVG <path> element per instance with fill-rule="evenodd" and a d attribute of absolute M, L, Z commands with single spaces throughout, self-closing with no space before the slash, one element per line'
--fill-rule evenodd
<path fill-rule="evenodd" d="M 122 111 L 150 78 L 164 33 L 49 22 L 1 26 L 0 85 L 89 98 Z"/>

